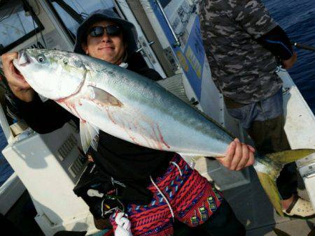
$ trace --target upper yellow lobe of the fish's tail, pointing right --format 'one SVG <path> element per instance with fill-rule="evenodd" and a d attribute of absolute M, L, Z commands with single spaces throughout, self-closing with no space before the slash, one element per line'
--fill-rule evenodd
<path fill-rule="evenodd" d="M 314 153 L 315 149 L 295 149 L 282 152 L 274 152 L 272 154 L 266 154 L 265 156 L 272 159 L 272 161 L 276 163 L 286 164 L 297 161 Z"/>

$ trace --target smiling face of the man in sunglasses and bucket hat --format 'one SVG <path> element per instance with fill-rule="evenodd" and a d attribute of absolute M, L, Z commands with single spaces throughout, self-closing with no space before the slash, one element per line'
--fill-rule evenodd
<path fill-rule="evenodd" d="M 93 27 L 107 27 L 109 25 L 117 24 L 104 20 L 92 24 L 90 29 Z M 123 43 L 123 34 L 118 36 L 109 36 L 105 30 L 104 34 L 98 37 L 90 36 L 90 34 L 88 34 L 87 44 L 83 45 L 83 50 L 85 50 L 85 53 L 91 57 L 119 65 L 121 62 L 123 62 L 125 47 L 126 46 Z"/>

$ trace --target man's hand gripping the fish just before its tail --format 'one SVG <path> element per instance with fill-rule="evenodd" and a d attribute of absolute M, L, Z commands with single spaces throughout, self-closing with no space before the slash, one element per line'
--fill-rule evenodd
<path fill-rule="evenodd" d="M 228 150 L 224 157 L 218 157 L 216 160 L 224 165 L 229 170 L 241 170 L 254 163 L 255 149 L 250 145 L 246 145 L 239 142 L 238 138 L 235 138 L 230 143 Z"/>

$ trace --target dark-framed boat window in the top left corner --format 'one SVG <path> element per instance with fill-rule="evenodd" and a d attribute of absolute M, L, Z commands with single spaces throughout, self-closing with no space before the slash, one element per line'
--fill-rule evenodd
<path fill-rule="evenodd" d="M 0 1 L 0 53 L 8 52 L 43 29 L 25 0 Z"/>

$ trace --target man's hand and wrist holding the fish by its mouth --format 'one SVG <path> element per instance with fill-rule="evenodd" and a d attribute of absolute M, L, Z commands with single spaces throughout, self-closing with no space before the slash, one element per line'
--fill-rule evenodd
<path fill-rule="evenodd" d="M 13 94 L 22 101 L 32 101 L 34 90 L 31 89 L 25 78 L 13 66 L 13 59 L 18 58 L 18 52 L 8 52 L 1 55 L 3 73 L 8 80 L 8 85 L 13 91 Z"/>

